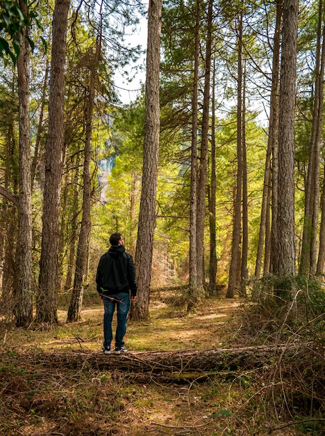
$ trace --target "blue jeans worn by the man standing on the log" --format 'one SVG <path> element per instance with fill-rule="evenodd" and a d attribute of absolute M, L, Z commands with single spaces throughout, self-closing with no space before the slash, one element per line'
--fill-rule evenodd
<path fill-rule="evenodd" d="M 116 293 L 109 296 L 103 295 L 104 316 L 103 316 L 103 333 L 104 347 L 110 347 L 113 340 L 112 320 L 117 306 L 117 327 L 115 333 L 115 347 L 124 345 L 124 335 L 126 333 L 126 320 L 130 309 L 130 295 L 128 293 Z"/>

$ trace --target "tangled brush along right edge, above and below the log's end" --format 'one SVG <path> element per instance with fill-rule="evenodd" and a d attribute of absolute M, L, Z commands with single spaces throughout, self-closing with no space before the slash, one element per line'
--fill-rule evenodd
<path fill-rule="evenodd" d="M 260 379 L 265 407 L 274 419 L 287 416 L 297 431 L 317 435 L 325 423 L 324 308 L 318 279 L 269 276 L 249 283 L 249 299 L 236 313 L 238 341 L 284 347 Z M 289 349 L 292 357 L 284 359 Z"/>

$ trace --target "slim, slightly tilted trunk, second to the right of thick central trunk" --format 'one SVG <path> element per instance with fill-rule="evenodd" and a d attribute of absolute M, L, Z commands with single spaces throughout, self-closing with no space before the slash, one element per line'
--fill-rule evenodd
<path fill-rule="evenodd" d="M 208 6 L 208 30 L 206 38 L 206 65 L 204 74 L 203 116 L 201 132 L 201 153 L 199 168 L 199 185 L 197 187 L 197 284 L 205 283 L 203 264 L 204 228 L 206 222 L 206 179 L 208 169 L 208 133 L 210 119 L 210 76 L 212 45 L 213 0 Z"/>

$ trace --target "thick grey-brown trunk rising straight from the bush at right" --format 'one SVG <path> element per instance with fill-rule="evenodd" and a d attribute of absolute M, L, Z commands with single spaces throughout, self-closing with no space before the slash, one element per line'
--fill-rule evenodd
<path fill-rule="evenodd" d="M 280 123 L 278 137 L 278 245 L 279 276 L 295 273 L 294 250 L 294 109 L 296 98 L 296 63 L 298 0 L 283 5 L 283 40 L 280 77 Z"/>

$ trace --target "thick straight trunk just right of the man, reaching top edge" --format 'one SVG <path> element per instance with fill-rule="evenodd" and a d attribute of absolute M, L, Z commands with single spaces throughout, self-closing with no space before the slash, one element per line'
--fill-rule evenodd
<path fill-rule="evenodd" d="M 131 318 L 139 321 L 147 320 L 149 317 L 153 232 L 156 226 L 160 133 L 159 70 L 161 13 L 162 0 L 149 0 L 144 157 L 138 240 L 135 251 L 138 297 L 131 306 Z"/>

